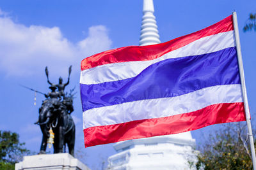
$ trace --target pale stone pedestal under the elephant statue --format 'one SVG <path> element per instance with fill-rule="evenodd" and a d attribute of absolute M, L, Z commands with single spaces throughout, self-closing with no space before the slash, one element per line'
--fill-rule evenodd
<path fill-rule="evenodd" d="M 90 170 L 69 153 L 42 154 L 23 157 L 23 161 L 15 164 L 15 170 Z"/>

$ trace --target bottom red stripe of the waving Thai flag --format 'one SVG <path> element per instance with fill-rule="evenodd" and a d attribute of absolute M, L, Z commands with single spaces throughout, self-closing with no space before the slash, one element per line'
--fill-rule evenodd
<path fill-rule="evenodd" d="M 132 122 L 84 129 L 85 147 L 193 131 L 208 125 L 246 120 L 243 103 L 221 103 L 201 110 Z"/>

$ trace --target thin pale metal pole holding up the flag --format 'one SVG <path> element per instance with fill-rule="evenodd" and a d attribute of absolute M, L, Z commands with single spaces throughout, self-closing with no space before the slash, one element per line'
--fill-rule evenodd
<path fill-rule="evenodd" d="M 245 81 L 244 81 L 243 60 L 242 60 L 242 53 L 241 53 L 241 46 L 240 46 L 236 11 L 234 11 L 232 13 L 232 16 L 233 16 L 235 38 L 236 38 L 236 50 L 237 50 L 237 60 L 238 60 L 238 66 L 239 66 L 239 74 L 240 74 L 242 92 L 243 92 L 244 110 L 245 110 L 245 115 L 246 115 L 248 136 L 249 136 L 249 140 L 250 140 L 250 146 L 251 146 L 250 148 L 251 148 L 251 153 L 252 153 L 252 164 L 253 164 L 253 170 L 256 170 L 255 148 L 254 148 L 254 143 L 253 143 L 252 125 L 251 125 L 251 120 L 250 120 L 251 116 L 250 116 L 247 93 L 246 93 L 246 87 L 245 87 Z"/>

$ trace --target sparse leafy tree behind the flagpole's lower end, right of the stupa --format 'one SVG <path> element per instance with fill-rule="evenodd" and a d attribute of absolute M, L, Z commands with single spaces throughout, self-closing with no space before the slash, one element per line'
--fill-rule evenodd
<path fill-rule="evenodd" d="M 199 150 L 198 161 L 189 162 L 195 169 L 252 169 L 244 122 L 221 125 Z"/>

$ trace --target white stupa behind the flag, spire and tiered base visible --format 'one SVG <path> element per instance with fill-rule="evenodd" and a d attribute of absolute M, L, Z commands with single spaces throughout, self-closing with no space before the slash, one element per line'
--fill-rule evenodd
<path fill-rule="evenodd" d="M 143 0 L 140 45 L 157 43 L 161 41 L 153 0 Z M 195 159 L 193 147 L 190 132 L 118 142 L 117 153 L 108 158 L 108 169 L 189 169 L 188 159 Z"/>

